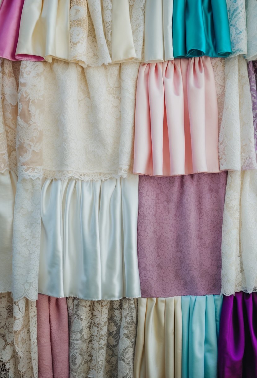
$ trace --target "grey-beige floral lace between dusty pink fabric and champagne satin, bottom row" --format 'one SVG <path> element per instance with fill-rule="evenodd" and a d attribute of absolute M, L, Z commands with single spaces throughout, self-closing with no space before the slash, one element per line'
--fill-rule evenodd
<path fill-rule="evenodd" d="M 67 298 L 70 378 L 132 378 L 137 312 L 134 299 Z"/>

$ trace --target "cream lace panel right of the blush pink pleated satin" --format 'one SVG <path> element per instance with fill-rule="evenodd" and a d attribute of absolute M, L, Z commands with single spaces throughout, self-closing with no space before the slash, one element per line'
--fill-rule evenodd
<path fill-rule="evenodd" d="M 225 95 L 219 132 L 222 170 L 257 169 L 251 90 L 242 55 L 225 59 Z"/>

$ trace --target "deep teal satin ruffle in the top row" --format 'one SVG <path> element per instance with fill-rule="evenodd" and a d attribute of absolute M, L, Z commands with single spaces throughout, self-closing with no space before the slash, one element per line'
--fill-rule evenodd
<path fill-rule="evenodd" d="M 174 58 L 231 54 L 226 0 L 173 1 Z"/>

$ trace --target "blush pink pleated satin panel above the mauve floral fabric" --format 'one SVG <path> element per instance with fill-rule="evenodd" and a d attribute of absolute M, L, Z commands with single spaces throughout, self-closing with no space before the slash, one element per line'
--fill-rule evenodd
<path fill-rule="evenodd" d="M 218 108 L 209 57 L 141 64 L 134 173 L 219 172 Z"/>

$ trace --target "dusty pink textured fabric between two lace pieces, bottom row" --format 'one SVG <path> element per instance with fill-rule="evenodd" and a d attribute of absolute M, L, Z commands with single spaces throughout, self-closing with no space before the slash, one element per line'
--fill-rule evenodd
<path fill-rule="evenodd" d="M 69 328 L 66 298 L 38 294 L 38 378 L 69 378 Z"/>

